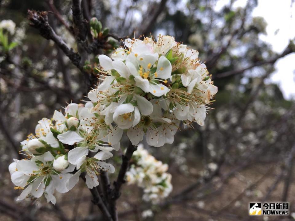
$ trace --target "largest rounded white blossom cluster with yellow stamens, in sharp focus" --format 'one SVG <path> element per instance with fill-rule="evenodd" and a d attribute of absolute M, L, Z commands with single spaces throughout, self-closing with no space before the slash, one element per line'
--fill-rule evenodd
<path fill-rule="evenodd" d="M 126 39 L 112 59 L 100 55 L 102 83 L 89 92 L 94 109 L 106 125 L 127 131 L 133 145 L 172 144 L 180 121 L 204 125 L 206 105 L 216 94 L 199 52 L 171 36 Z"/>

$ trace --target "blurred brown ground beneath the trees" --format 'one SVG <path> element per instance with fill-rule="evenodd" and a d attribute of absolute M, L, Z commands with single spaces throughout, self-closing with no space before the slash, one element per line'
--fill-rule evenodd
<path fill-rule="evenodd" d="M 169 172 L 173 177 L 173 192 L 171 196 L 193 183 L 198 178 L 198 172 L 203 170 L 197 159 L 196 163 L 191 165 L 191 168 L 191 172 L 195 176 L 190 177 L 179 173 L 175 168 L 170 168 Z M 227 165 L 222 171 L 222 174 L 228 174 L 232 169 L 231 166 Z M 214 184 L 212 186 L 210 185 L 212 183 L 205 184 L 204 186 L 209 188 L 204 189 L 202 187 L 202 192 L 193 192 L 191 194 L 192 200 L 180 201 L 179 203 L 162 208 L 153 206 L 152 208 L 158 211 L 155 213 L 153 220 L 291 220 L 288 216 L 248 216 L 249 202 L 264 202 L 263 199 L 269 194 L 270 190 L 273 191 L 265 201 L 281 201 L 283 191 L 282 180 L 279 180 L 277 186 L 274 187 L 274 183 L 280 173 L 280 168 L 276 164 L 258 163 L 238 173 L 234 173 L 224 182 L 222 182 L 221 177 L 216 176 L 213 179 Z M 8 173 L 6 174 L 5 182 L 8 185 L 1 186 L 0 194 L 3 200 L 11 202 L 12 196 L 10 195 L 10 190 L 12 184 L 10 183 Z M 292 194 L 294 190 L 295 184 L 291 184 L 289 189 L 290 194 L 288 196 L 290 214 L 295 210 L 295 196 Z M 17 196 L 19 194 L 18 190 L 15 190 L 14 194 Z M 76 185 L 71 192 L 62 195 L 57 194 L 56 196 L 57 205 L 68 220 L 83 220 L 88 214 L 92 214 L 89 217 L 93 217 L 93 220 L 99 217 L 100 212 L 91 203 L 90 192 L 83 182 Z M 138 187 L 133 185 L 124 186 L 124 194 L 118 201 L 120 220 L 143 220 L 140 210 L 146 203 L 139 200 L 140 198 L 141 190 Z M 47 211 L 52 205 L 46 204 L 44 199 L 38 205 L 39 207 L 35 209 L 37 210 L 37 219 L 51 221 L 57 218 L 50 211 Z M 19 208 L 22 207 L 21 204 L 18 204 L 18 206 Z M 6 221 L 13 219 L 6 215 L 0 215 L 0 220 Z"/>

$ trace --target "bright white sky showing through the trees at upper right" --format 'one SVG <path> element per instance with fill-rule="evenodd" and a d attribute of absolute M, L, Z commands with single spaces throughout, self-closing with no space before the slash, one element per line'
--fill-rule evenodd
<path fill-rule="evenodd" d="M 218 1 L 215 10 L 221 9 L 228 2 Z M 246 2 L 238 0 L 233 7 L 244 7 Z M 271 44 L 277 53 L 283 52 L 289 40 L 295 37 L 295 3 L 293 7 L 290 6 L 291 0 L 258 0 L 258 6 L 253 11 L 253 16 L 263 17 L 268 24 L 267 35 L 261 35 L 260 38 Z M 277 60 L 275 68 L 277 71 L 266 82 L 277 83 L 286 99 L 295 99 L 295 53 Z"/>

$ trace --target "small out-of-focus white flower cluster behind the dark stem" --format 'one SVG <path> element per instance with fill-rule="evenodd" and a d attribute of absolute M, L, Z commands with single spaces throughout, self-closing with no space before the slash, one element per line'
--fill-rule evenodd
<path fill-rule="evenodd" d="M 128 184 L 144 189 L 143 200 L 157 204 L 172 191 L 171 174 L 166 173 L 168 165 L 148 153 L 142 144 L 132 156 L 132 165 L 126 173 Z"/>

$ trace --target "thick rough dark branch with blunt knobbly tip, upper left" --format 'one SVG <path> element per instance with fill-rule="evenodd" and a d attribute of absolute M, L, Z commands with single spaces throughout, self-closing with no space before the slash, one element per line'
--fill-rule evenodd
<path fill-rule="evenodd" d="M 65 53 L 65 55 L 69 57 L 72 63 L 81 71 L 83 71 L 83 66 L 80 65 L 81 56 L 78 53 L 75 53 L 72 48 L 69 48 L 62 38 L 54 32 L 48 23 L 48 12 L 36 12 L 34 10 L 28 10 L 28 19 L 31 21 L 30 25 L 40 31 L 42 37 L 54 41 L 57 46 Z"/>

